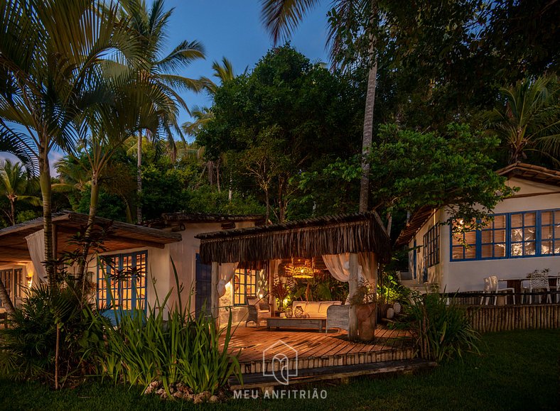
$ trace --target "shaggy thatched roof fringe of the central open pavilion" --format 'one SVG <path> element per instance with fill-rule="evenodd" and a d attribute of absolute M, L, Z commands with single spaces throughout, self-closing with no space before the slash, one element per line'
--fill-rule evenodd
<path fill-rule="evenodd" d="M 270 226 L 199 234 L 200 258 L 205 263 L 312 258 L 323 254 L 372 251 L 389 261 L 389 237 L 377 214 L 317 217 Z"/>

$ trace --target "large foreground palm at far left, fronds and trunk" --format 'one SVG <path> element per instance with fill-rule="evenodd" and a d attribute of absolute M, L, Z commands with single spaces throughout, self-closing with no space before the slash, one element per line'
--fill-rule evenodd
<path fill-rule="evenodd" d="M 38 160 L 45 261 L 53 261 L 49 153 L 72 151 L 88 106 L 107 100 L 104 63 L 132 61 L 138 45 L 116 7 L 90 0 L 0 3 L 0 136 Z M 47 264 L 49 285 L 55 268 Z"/>

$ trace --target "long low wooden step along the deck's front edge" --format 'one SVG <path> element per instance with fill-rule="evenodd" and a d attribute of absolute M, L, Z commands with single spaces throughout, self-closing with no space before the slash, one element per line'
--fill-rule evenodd
<path fill-rule="evenodd" d="M 426 361 L 420 358 L 406 359 L 401 361 L 379 361 L 376 363 L 362 363 L 348 366 L 328 366 L 318 368 L 306 368 L 298 370 L 297 376 L 291 376 L 287 385 L 313 383 L 321 380 L 346 380 L 352 377 L 386 375 L 393 373 L 411 373 L 434 368 L 434 361 Z M 251 390 L 262 388 L 269 390 L 272 387 L 283 387 L 274 376 L 264 376 L 262 373 L 244 374 L 243 383 L 237 377 L 229 380 L 232 390 Z"/>

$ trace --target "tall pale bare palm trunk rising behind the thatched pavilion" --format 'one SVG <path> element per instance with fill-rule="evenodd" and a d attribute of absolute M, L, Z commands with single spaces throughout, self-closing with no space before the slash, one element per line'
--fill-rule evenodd
<path fill-rule="evenodd" d="M 377 1 L 372 1 L 371 22 L 375 20 Z M 365 97 L 364 136 L 362 138 L 362 178 L 360 179 L 360 212 L 367 212 L 370 199 L 370 147 L 373 136 L 373 109 L 375 106 L 375 89 L 377 87 L 377 54 L 375 53 L 375 37 L 370 35 L 370 72 L 367 74 L 367 94 Z"/>

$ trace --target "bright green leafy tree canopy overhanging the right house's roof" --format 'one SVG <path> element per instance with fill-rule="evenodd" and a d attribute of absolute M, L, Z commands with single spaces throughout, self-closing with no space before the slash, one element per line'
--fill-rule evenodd
<path fill-rule="evenodd" d="M 514 191 L 492 171 L 499 141 L 450 124 L 446 133 L 421 133 L 384 125 L 370 150 L 375 208 L 388 211 L 443 207 L 448 222 L 483 218 Z M 303 173 L 301 185 L 316 180 L 360 178 L 360 159 L 339 160 L 323 173 Z M 323 183 L 324 184 L 324 183 Z M 334 182 L 331 182 L 334 184 Z M 480 207 L 479 207 L 480 206 Z"/>

